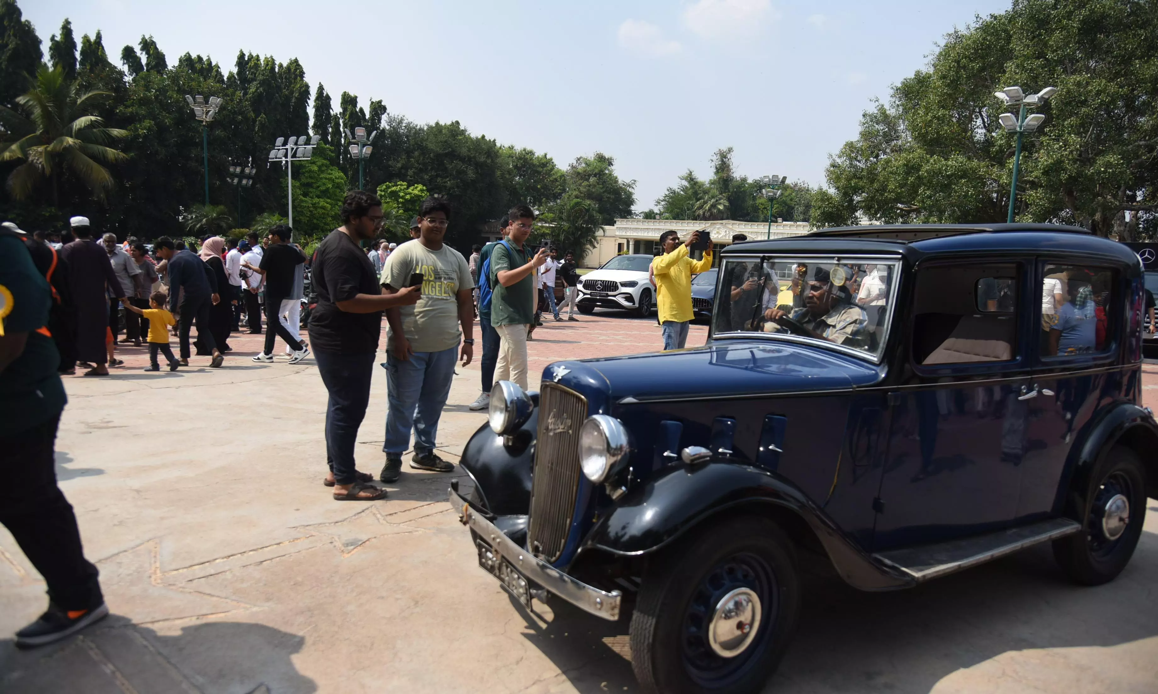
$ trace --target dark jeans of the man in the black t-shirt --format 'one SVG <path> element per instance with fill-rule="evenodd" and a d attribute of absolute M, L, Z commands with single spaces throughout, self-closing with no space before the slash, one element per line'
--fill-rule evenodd
<path fill-rule="evenodd" d="M 277 319 L 273 319 L 277 322 Z M 272 329 L 270 330 L 272 333 Z M 325 462 L 338 484 L 353 484 L 354 444 L 369 404 L 374 352 L 314 352 L 317 373 L 330 393 L 325 407 Z"/>

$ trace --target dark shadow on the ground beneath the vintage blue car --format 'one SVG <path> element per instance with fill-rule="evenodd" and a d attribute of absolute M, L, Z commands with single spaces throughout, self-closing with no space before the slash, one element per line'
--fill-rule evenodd
<path fill-rule="evenodd" d="M 764 692 L 924 694 L 954 672 L 1006 652 L 1114 646 L 1152 637 L 1158 635 L 1158 604 L 1149 577 L 1156 571 L 1158 536 L 1143 533 L 1131 564 L 1115 582 L 1098 587 L 1069 583 L 1048 545 L 888 593 L 858 591 L 827 571 L 808 572 L 799 629 Z M 534 630 L 526 638 L 576 689 L 638 691 L 629 662 L 630 613 L 607 622 L 552 599 L 554 619 L 544 624 L 511 602 Z M 1136 669 L 1145 667 L 1138 663 Z M 1020 677 L 1026 691 L 1064 686 L 1034 681 L 1029 672 L 1009 677 Z M 1113 689 L 1109 682 L 1107 687 Z"/>

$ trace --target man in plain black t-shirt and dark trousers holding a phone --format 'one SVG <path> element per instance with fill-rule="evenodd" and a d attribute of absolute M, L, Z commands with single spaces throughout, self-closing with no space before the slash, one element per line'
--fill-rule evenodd
<path fill-rule="evenodd" d="M 386 490 L 369 483 L 373 475 L 354 468 L 354 443 L 369 403 L 382 313 L 417 304 L 422 285 L 382 294 L 374 265 L 360 246 L 382 226 L 380 199 L 362 190 L 346 193 L 342 220 L 343 226 L 317 247 L 310 265 L 317 306 L 309 317 L 309 343 L 330 394 L 325 412 L 330 474 L 324 483 L 334 485 L 337 501 L 372 502 L 384 497 Z"/>

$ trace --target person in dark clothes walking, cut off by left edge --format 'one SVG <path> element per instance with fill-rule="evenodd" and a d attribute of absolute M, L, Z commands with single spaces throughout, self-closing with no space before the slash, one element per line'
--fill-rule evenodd
<path fill-rule="evenodd" d="M 111 272 L 104 249 L 88 243 Z M 96 299 L 103 331 L 103 286 Z M 76 517 L 57 487 L 57 426 L 67 397 L 57 373 L 60 356 L 46 335 L 51 305 L 49 283 L 23 239 L 0 229 L 0 523 L 49 585 L 49 608 L 16 633 L 20 648 L 60 641 L 109 614 Z"/>

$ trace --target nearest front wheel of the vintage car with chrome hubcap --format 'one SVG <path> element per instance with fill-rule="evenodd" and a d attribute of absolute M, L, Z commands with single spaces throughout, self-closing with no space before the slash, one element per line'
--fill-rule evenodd
<path fill-rule="evenodd" d="M 653 561 L 631 618 L 644 692 L 758 692 L 800 613 L 792 543 L 772 521 L 711 524 Z"/>

